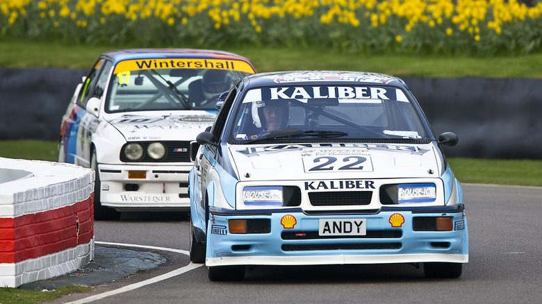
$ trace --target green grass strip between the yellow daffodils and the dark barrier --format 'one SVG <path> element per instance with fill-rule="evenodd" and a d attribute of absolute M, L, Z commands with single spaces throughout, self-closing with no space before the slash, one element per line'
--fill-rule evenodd
<path fill-rule="evenodd" d="M 90 69 L 100 53 L 130 46 L 83 46 L 8 40 L 0 42 L 1 67 Z M 190 47 L 190 46 L 163 46 Z M 338 69 L 373 71 L 395 76 L 542 78 L 542 53 L 492 58 L 359 55 L 327 49 L 225 48 L 249 58 L 256 69 Z"/>

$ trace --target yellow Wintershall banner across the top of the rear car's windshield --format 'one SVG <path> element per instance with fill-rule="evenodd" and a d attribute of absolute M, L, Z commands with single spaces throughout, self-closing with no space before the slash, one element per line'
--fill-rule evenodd
<path fill-rule="evenodd" d="M 164 58 L 124 60 L 117 63 L 114 74 L 143 69 L 227 69 L 254 73 L 254 69 L 247 62 L 240 60 Z"/>

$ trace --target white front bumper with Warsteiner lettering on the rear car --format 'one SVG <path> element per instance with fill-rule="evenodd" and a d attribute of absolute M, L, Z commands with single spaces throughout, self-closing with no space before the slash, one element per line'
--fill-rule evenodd
<path fill-rule="evenodd" d="M 188 174 L 192 164 L 99 164 L 98 168 L 103 206 L 119 211 L 190 209 Z"/>

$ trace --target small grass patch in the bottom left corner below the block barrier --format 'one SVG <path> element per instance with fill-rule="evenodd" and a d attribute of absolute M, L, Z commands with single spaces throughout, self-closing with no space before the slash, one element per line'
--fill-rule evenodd
<path fill-rule="evenodd" d="M 0 287 L 0 303 L 2 304 L 29 304 L 40 303 L 45 301 L 53 301 L 60 296 L 66 294 L 74 294 L 78 292 L 88 292 L 92 287 L 83 286 L 67 286 L 59 287 L 58 289 L 49 292 L 40 292 L 34 290 L 15 289 L 8 287 Z"/>

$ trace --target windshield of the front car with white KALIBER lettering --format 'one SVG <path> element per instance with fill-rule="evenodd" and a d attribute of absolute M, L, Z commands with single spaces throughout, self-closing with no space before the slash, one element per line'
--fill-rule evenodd
<path fill-rule="evenodd" d="M 249 90 L 230 138 L 263 140 L 427 140 L 420 117 L 398 87 L 279 86 Z"/>

